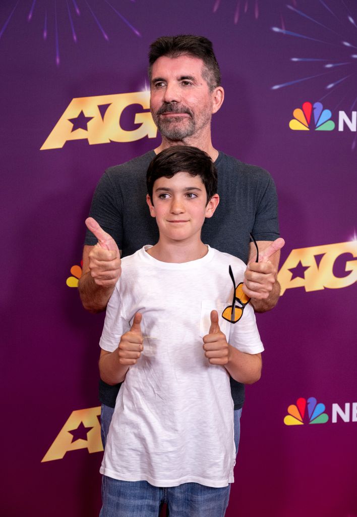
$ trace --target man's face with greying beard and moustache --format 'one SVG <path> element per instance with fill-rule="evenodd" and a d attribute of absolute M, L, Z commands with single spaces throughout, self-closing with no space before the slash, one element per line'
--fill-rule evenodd
<path fill-rule="evenodd" d="M 150 110 L 162 136 L 182 141 L 210 127 L 213 93 L 204 63 L 189 55 L 162 56 L 152 66 Z"/>

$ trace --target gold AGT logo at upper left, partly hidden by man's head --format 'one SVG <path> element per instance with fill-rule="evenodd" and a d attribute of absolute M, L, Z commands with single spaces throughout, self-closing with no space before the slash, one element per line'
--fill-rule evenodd
<path fill-rule="evenodd" d="M 123 111 L 132 104 L 150 108 L 150 92 L 100 95 L 72 99 L 64 114 L 46 138 L 41 150 L 58 149 L 69 140 L 88 140 L 90 145 L 110 142 L 134 142 L 147 136 L 156 138 L 158 129 L 151 113 L 134 116 L 138 128 L 127 131 L 120 126 Z"/>

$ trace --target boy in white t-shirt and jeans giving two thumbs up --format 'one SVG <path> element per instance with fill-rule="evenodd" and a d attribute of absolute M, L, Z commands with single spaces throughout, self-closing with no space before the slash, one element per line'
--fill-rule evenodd
<path fill-rule="evenodd" d="M 261 372 L 253 308 L 232 303 L 229 266 L 236 287 L 245 264 L 200 239 L 219 203 L 204 151 L 163 150 L 147 187 L 159 241 L 123 258 L 100 340 L 101 378 L 125 380 L 100 470 L 100 515 L 157 517 L 167 502 L 170 517 L 220 517 L 234 481 L 229 375 L 250 384 Z"/>

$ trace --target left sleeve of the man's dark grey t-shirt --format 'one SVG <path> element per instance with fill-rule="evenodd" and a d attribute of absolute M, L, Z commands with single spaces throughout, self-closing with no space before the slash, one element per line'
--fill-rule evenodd
<path fill-rule="evenodd" d="M 104 232 L 110 234 L 119 249 L 122 249 L 122 198 L 121 192 L 117 192 L 113 186 L 108 171 L 105 171 L 94 192 L 90 206 L 89 216 L 94 218 Z M 97 244 L 96 237 L 87 229 L 84 240 L 85 245 Z"/>

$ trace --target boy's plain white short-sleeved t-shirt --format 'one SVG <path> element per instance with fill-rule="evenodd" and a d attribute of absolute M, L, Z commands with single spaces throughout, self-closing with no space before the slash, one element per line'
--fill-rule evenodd
<path fill-rule="evenodd" d="M 145 338 L 119 390 L 100 472 L 154 486 L 226 486 L 234 481 L 234 405 L 227 370 L 209 363 L 203 337 L 216 309 L 229 344 L 263 351 L 250 305 L 236 324 L 222 318 L 233 294 L 228 267 L 238 285 L 246 266 L 209 247 L 199 260 L 160 262 L 149 247 L 122 259 L 106 309 L 101 348 L 117 349 L 136 312 Z"/>

